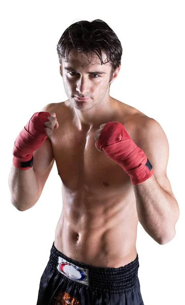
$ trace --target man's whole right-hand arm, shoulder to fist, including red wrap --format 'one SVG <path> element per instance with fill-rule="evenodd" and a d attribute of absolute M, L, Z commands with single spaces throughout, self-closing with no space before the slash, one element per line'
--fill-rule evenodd
<path fill-rule="evenodd" d="M 168 141 L 159 123 L 152 118 L 140 117 L 136 126 L 138 134 L 134 142 L 120 123 L 102 124 L 95 136 L 96 147 L 128 173 L 139 221 L 153 239 L 163 244 L 175 236 L 179 217 L 178 204 L 166 175 Z"/>

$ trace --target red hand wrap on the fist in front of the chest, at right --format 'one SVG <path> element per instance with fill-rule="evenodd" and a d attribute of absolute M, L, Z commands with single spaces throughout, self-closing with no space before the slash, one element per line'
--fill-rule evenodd
<path fill-rule="evenodd" d="M 124 126 L 118 122 L 105 125 L 97 147 L 122 167 L 131 178 L 133 185 L 138 185 L 153 174 L 152 165 L 144 151 L 139 148 L 127 133 Z"/>

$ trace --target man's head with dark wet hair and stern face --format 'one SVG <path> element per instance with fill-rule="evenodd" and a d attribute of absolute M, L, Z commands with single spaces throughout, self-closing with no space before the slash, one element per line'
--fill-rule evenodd
<path fill-rule="evenodd" d="M 100 19 L 73 23 L 61 36 L 57 53 L 69 100 L 89 97 L 99 103 L 109 95 L 120 69 L 122 47 L 107 23 Z"/>

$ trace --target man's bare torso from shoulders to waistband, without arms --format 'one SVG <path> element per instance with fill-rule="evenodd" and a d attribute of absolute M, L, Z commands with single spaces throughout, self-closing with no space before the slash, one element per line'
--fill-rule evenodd
<path fill-rule="evenodd" d="M 124 125 L 139 146 L 137 123 L 145 115 L 115 102 L 119 111 L 112 121 Z M 97 267 L 125 266 L 137 256 L 138 216 L 130 177 L 97 150 L 95 129 L 77 128 L 68 103 L 52 105 L 59 127 L 50 140 L 63 196 L 54 245 L 78 262 Z"/>

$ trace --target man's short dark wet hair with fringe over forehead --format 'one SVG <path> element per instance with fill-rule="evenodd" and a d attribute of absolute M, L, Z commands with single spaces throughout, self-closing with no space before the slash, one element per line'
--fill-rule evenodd
<path fill-rule="evenodd" d="M 87 60 L 88 53 L 91 54 L 92 58 L 93 52 L 95 52 L 102 65 L 111 62 L 111 75 L 121 63 L 121 43 L 110 26 L 101 19 L 81 20 L 71 24 L 64 31 L 56 47 L 61 65 L 62 59 L 67 59 L 68 62 L 71 49 L 83 52 L 87 56 Z M 107 56 L 107 62 L 103 62 L 102 51 Z"/>

